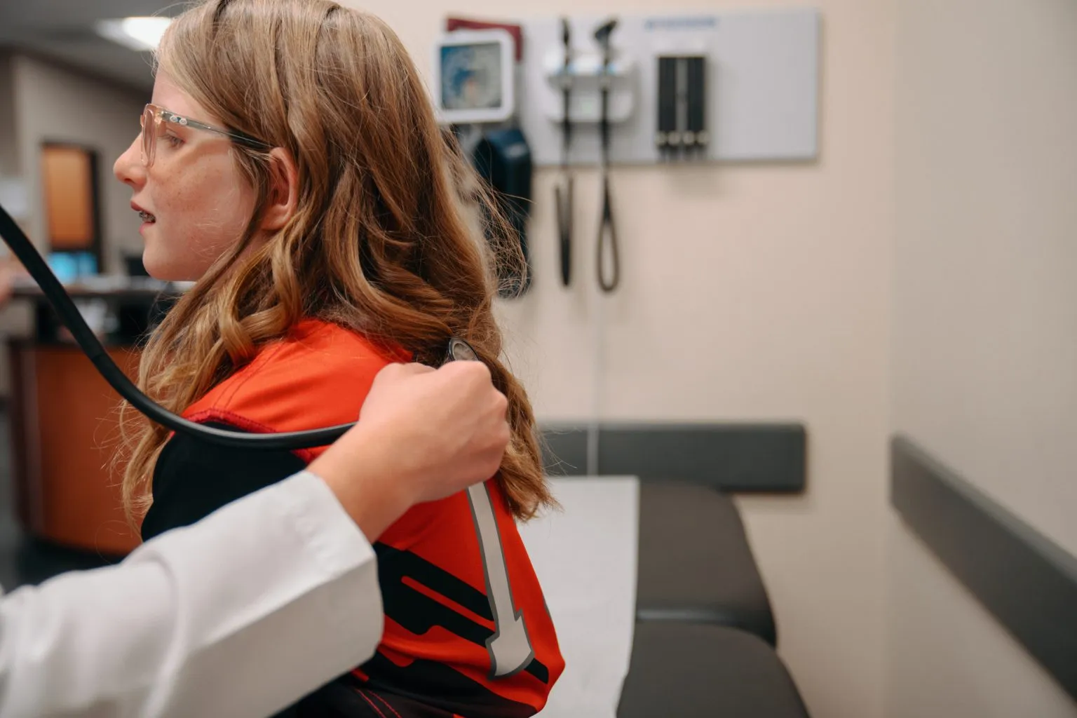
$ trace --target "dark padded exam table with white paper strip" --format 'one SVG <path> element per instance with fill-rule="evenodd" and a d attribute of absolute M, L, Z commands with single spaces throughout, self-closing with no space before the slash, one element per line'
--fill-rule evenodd
<path fill-rule="evenodd" d="M 634 477 L 551 487 L 562 510 L 520 529 L 568 664 L 542 718 L 808 716 L 727 496 Z"/>

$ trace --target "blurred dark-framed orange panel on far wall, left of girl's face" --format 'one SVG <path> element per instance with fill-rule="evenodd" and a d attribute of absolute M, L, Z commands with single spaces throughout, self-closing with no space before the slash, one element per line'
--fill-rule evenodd
<path fill-rule="evenodd" d="M 102 262 L 97 152 L 65 142 L 41 146 L 48 251 L 76 276 L 96 274 Z"/>

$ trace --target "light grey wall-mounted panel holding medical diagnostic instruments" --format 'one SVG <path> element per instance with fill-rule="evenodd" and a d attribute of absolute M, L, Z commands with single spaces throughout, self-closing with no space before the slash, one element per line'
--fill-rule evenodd
<path fill-rule="evenodd" d="M 518 123 L 535 164 L 562 164 L 565 123 L 569 161 L 598 164 L 603 115 L 613 164 L 815 158 L 817 11 L 621 15 L 604 47 L 609 20 L 520 20 Z"/>

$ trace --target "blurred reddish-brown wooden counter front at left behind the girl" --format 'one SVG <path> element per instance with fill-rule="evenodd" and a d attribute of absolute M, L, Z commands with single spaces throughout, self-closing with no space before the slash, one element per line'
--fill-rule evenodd
<path fill-rule="evenodd" d="M 31 535 L 118 557 L 139 544 L 124 518 L 120 396 L 78 347 L 13 341 L 12 444 L 18 518 Z M 112 358 L 136 375 L 135 349 Z"/>

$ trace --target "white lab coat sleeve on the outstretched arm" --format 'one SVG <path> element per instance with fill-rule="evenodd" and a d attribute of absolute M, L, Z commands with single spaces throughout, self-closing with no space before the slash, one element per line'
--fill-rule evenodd
<path fill-rule="evenodd" d="M 369 658 L 369 543 L 304 471 L 0 600 L 0 716 L 266 716 Z"/>

